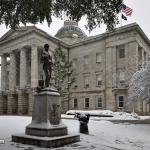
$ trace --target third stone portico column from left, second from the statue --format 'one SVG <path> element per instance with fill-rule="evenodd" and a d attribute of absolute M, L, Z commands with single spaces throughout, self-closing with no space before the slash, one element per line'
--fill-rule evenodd
<path fill-rule="evenodd" d="M 26 49 L 22 48 L 20 52 L 20 88 L 24 89 L 26 84 L 27 84 Z"/>

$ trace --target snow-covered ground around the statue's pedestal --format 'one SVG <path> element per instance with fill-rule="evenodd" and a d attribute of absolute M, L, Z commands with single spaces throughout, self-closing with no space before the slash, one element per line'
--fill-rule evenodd
<path fill-rule="evenodd" d="M 79 121 L 62 120 L 69 133 L 77 133 Z M 30 145 L 11 142 L 11 135 L 24 132 L 31 117 L 0 116 L 0 150 L 46 150 Z M 90 120 L 89 135 L 80 134 L 81 141 L 54 150 L 150 150 L 150 124 L 113 124 L 107 120 Z"/>

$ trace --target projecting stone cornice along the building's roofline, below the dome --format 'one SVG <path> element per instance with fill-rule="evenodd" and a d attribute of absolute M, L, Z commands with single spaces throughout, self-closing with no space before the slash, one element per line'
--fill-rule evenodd
<path fill-rule="evenodd" d="M 20 35 L 16 35 L 14 37 L 11 37 L 8 40 L 0 41 L 0 45 L 4 44 L 4 43 L 7 43 L 7 42 L 9 42 L 11 40 L 15 40 L 17 38 L 20 38 L 20 37 L 22 37 L 22 36 L 24 36 L 26 34 L 30 34 L 31 32 L 35 32 L 35 33 L 37 33 L 37 34 L 39 34 L 39 35 L 41 35 L 41 36 L 43 36 L 45 38 L 51 39 L 54 43 L 60 44 L 64 48 L 75 48 L 75 47 L 78 47 L 78 46 L 81 46 L 81 45 L 85 45 L 85 44 L 89 44 L 89 43 L 93 43 L 93 42 L 96 42 L 96 41 L 99 41 L 99 40 L 104 40 L 107 37 L 115 35 L 115 34 L 120 34 L 120 33 L 124 33 L 124 32 L 129 32 L 129 31 L 136 30 L 143 37 L 143 39 L 145 40 L 145 42 L 150 46 L 150 40 L 148 39 L 148 37 L 146 36 L 146 34 L 143 32 L 143 30 L 140 28 L 140 26 L 137 23 L 132 23 L 132 24 L 128 24 L 128 25 L 116 28 L 116 29 L 114 29 L 111 32 L 105 32 L 105 33 L 102 33 L 102 34 L 99 34 L 99 35 L 88 37 L 88 38 L 86 38 L 84 40 L 81 40 L 81 41 L 79 41 L 77 43 L 74 43 L 72 45 L 67 44 L 66 42 L 62 41 L 59 38 L 56 38 L 56 37 L 53 37 L 53 36 L 49 35 L 45 31 L 43 31 L 43 30 L 41 30 L 41 29 L 39 29 L 39 28 L 37 28 L 35 26 L 29 26 L 29 27 L 32 27 L 32 29 L 29 30 L 29 31 L 27 31 L 27 32 L 24 32 L 24 33 L 22 33 Z M 6 36 L 9 33 L 11 33 L 11 31 L 12 30 L 10 29 L 1 38 L 4 38 L 4 36 Z M 0 40 L 1 40 L 1 38 L 0 38 Z"/>

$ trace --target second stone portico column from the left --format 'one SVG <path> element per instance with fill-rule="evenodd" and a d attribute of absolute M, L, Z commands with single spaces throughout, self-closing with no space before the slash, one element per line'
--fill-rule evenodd
<path fill-rule="evenodd" d="M 15 52 L 10 53 L 10 71 L 9 71 L 9 90 L 15 91 L 16 88 L 16 58 Z"/>

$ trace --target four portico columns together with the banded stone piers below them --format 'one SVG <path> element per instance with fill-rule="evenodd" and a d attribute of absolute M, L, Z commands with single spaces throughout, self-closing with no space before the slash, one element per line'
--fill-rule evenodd
<path fill-rule="evenodd" d="M 34 88 L 38 85 L 38 47 L 36 45 L 31 46 L 31 71 L 27 69 L 27 48 L 22 47 L 19 51 L 20 53 L 20 85 L 18 92 L 16 93 L 16 86 L 17 86 L 17 55 L 15 51 L 10 52 L 10 65 L 9 65 L 9 74 L 7 73 L 7 56 L 8 54 L 3 54 L 1 56 L 1 90 L 6 91 L 7 99 L 4 99 L 4 95 L 0 96 L 0 103 L 2 107 L 4 101 L 7 102 L 7 114 L 31 114 L 33 108 L 33 93 Z M 17 56 L 17 57 L 16 57 Z M 29 63 L 28 63 L 29 64 Z M 30 80 L 30 94 L 26 93 L 26 85 L 27 77 L 30 76 L 29 73 L 31 72 L 31 80 Z M 8 80 L 8 81 L 7 81 Z M 7 84 L 9 83 L 9 86 Z M 3 108 L 4 109 L 4 108 Z M 2 111 L 4 111 L 1 109 Z M 5 110 L 6 111 L 6 110 Z M 0 113 L 1 114 L 1 113 Z"/>

